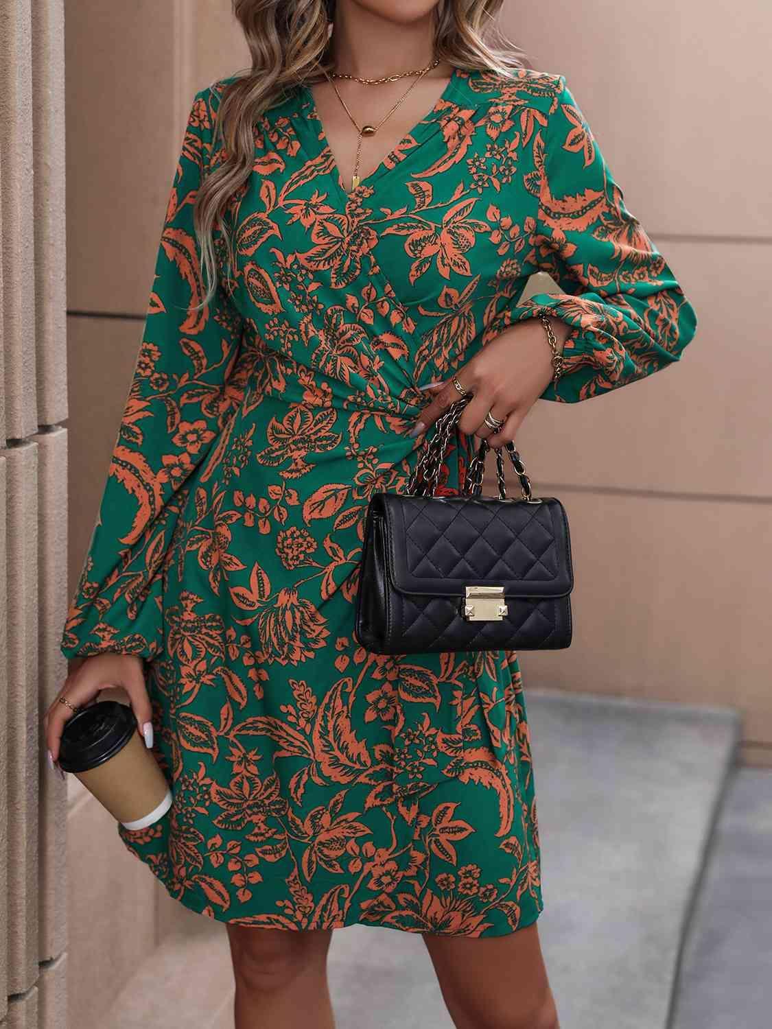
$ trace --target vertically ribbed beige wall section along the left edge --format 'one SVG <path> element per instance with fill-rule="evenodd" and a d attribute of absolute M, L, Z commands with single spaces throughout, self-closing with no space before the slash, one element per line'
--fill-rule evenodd
<path fill-rule="evenodd" d="M 65 674 L 63 15 L 60 0 L 0 5 L 0 1023 L 8 1029 L 62 1029 L 66 1016 L 65 789 L 40 747 L 40 713 Z"/>

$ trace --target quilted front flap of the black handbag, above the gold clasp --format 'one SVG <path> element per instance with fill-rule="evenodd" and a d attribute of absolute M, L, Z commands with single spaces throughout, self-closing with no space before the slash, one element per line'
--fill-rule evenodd
<path fill-rule="evenodd" d="M 389 577 L 401 593 L 462 597 L 501 586 L 508 597 L 563 597 L 573 587 L 568 523 L 555 497 L 378 493 Z"/>

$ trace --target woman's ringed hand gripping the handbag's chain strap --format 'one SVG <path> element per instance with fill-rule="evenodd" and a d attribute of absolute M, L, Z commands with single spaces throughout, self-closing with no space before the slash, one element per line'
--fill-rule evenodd
<path fill-rule="evenodd" d="M 559 349 L 570 326 L 551 319 Z M 491 447 L 514 442 L 525 416 L 552 381 L 552 349 L 538 318 L 511 325 L 487 343 L 466 364 L 455 372 L 460 385 L 473 393 L 458 420 L 461 432 L 487 439 Z M 437 383 L 430 390 L 431 401 L 421 412 L 411 435 L 425 432 L 461 394 L 451 382 Z M 503 421 L 494 431 L 485 417 Z"/>

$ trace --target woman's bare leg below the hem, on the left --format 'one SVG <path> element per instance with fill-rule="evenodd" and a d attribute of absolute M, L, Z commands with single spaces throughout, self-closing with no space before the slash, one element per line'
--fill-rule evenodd
<path fill-rule="evenodd" d="M 327 987 L 331 929 L 226 925 L 236 1029 L 335 1029 Z"/>

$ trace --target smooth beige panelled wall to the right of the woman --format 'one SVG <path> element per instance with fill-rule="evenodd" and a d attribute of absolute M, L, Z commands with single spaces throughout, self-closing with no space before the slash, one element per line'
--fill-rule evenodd
<path fill-rule="evenodd" d="M 504 7 L 534 64 L 565 74 L 699 320 L 678 364 L 526 420 L 518 446 L 576 559 L 575 642 L 524 654 L 526 682 L 734 705 L 743 758 L 771 765 L 772 8 Z"/>

